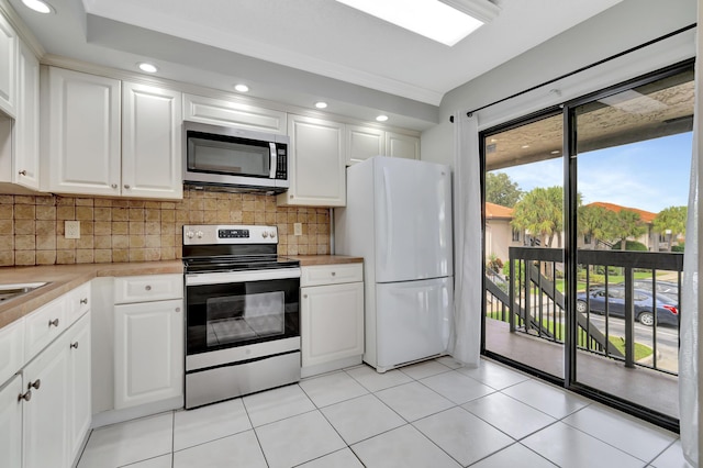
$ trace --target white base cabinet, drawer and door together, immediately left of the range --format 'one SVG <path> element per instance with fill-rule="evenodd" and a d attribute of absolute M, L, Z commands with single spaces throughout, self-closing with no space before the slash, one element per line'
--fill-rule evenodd
<path fill-rule="evenodd" d="M 182 397 L 182 275 L 115 278 L 114 408 Z"/>

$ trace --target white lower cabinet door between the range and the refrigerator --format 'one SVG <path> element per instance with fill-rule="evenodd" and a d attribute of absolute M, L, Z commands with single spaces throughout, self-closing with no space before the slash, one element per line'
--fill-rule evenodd
<path fill-rule="evenodd" d="M 302 288 L 302 366 L 364 354 L 364 283 Z"/>

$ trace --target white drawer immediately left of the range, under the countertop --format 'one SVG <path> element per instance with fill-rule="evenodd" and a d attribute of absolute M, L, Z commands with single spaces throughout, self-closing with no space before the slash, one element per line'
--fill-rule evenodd
<path fill-rule="evenodd" d="M 182 275 L 145 275 L 114 279 L 115 304 L 163 301 L 182 297 Z"/>

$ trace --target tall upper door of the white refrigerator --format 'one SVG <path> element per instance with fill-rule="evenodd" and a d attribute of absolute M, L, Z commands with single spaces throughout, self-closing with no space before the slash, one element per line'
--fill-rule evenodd
<path fill-rule="evenodd" d="M 376 281 L 454 275 L 448 166 L 375 158 Z"/>

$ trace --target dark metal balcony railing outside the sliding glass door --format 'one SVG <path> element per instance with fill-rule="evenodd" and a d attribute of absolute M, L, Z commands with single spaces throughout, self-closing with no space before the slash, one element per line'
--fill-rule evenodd
<path fill-rule="evenodd" d="M 577 261 L 578 349 L 677 375 L 683 255 L 580 249 Z M 507 278 L 487 270 L 488 316 L 513 333 L 562 344 L 562 271 L 561 249 L 511 247 Z"/>

